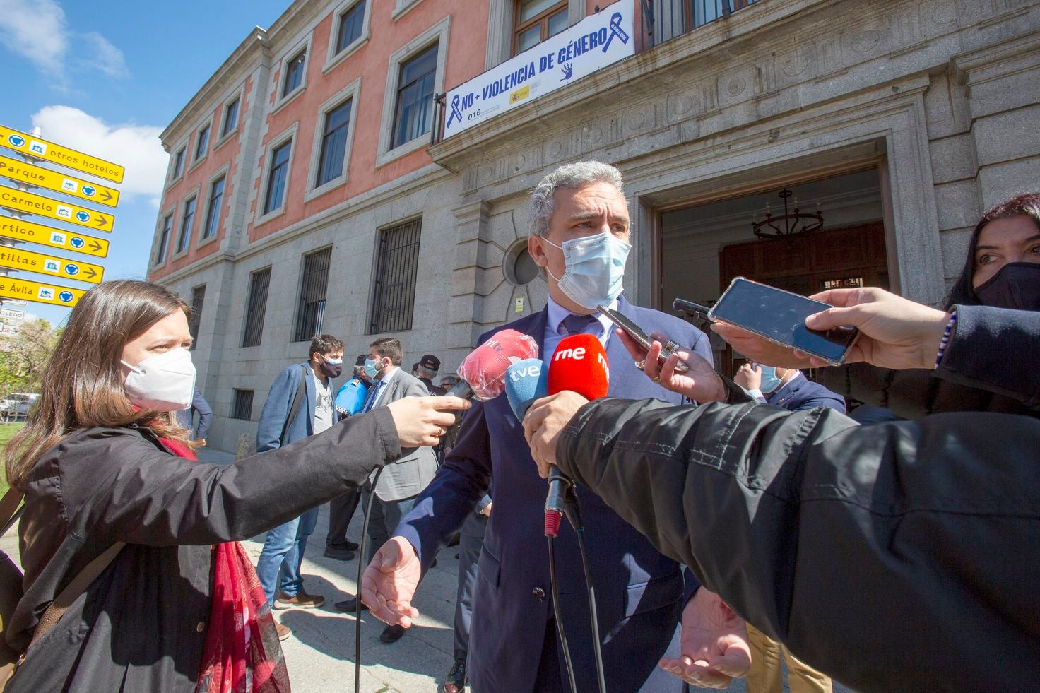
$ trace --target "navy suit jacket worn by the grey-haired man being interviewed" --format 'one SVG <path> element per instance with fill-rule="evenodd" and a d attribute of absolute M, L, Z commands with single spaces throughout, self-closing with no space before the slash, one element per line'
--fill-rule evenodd
<path fill-rule="evenodd" d="M 619 301 L 619 310 L 645 332 L 660 331 L 691 352 L 711 359 L 707 337 L 693 325 L 638 308 L 624 298 Z M 483 335 L 480 341 L 494 332 L 514 329 L 532 336 L 541 345 L 546 319 L 543 309 Z M 610 336 L 606 351 L 608 396 L 682 404 L 679 395 L 654 384 L 634 367 L 617 335 Z M 541 356 L 547 360 L 550 355 Z M 454 446 L 395 534 L 415 546 L 425 569 L 473 511 L 492 474 L 494 511 L 478 562 L 466 670 L 476 693 L 531 691 L 546 625 L 553 613 L 543 527 L 547 489 L 504 394 L 474 403 L 466 413 Z M 682 606 L 680 567 L 658 554 L 598 496 L 580 488 L 578 496 L 587 527 L 607 687 L 638 691 L 675 633 Z M 576 536 L 566 522 L 555 539 L 555 556 L 563 621 L 578 690 L 595 690 L 584 576 Z M 567 689 L 565 683 L 558 685 Z"/>

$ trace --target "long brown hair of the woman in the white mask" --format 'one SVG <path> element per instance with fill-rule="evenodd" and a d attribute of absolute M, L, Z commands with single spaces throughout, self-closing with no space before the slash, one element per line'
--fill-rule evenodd
<path fill-rule="evenodd" d="M 120 364 L 127 342 L 178 310 L 191 315 L 170 289 L 139 281 L 103 282 L 80 299 L 44 366 L 40 400 L 4 451 L 9 484 L 21 486 L 44 453 L 79 429 L 142 424 L 163 438 L 187 440 L 171 414 L 130 403 Z"/>

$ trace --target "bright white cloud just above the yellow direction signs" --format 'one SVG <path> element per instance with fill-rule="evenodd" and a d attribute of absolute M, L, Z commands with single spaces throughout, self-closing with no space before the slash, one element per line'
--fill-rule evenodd
<path fill-rule="evenodd" d="M 120 189 L 125 195 L 162 195 L 170 155 L 159 143 L 161 127 L 109 125 L 79 108 L 44 106 L 32 114 L 45 139 L 126 166 Z"/>

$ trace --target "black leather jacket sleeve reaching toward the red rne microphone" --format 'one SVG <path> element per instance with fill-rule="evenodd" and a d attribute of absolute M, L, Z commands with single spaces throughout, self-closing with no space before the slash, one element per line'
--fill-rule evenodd
<path fill-rule="evenodd" d="M 857 690 L 1040 676 L 1040 421 L 598 400 L 557 464 L 748 621 Z M 993 652 L 1000 663 L 993 666 Z"/>

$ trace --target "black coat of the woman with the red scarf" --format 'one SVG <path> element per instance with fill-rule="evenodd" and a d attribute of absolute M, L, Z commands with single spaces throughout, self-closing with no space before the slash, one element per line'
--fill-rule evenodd
<path fill-rule="evenodd" d="M 30 471 L 21 520 L 21 649 L 47 606 L 116 541 L 127 546 L 27 652 L 6 693 L 190 693 L 210 615 L 212 547 L 266 532 L 400 457 L 387 410 L 228 466 L 185 460 L 133 429 L 88 429 Z"/>

